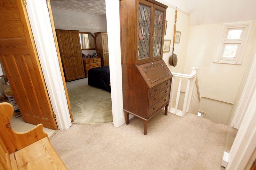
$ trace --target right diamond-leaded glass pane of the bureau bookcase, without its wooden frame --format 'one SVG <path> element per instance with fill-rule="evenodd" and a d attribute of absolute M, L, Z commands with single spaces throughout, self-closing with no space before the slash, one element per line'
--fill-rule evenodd
<path fill-rule="evenodd" d="M 161 55 L 163 15 L 164 12 L 155 10 L 153 57 Z"/>

